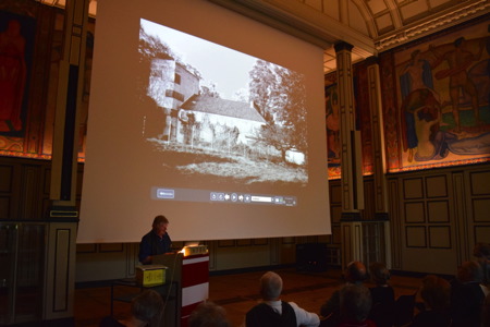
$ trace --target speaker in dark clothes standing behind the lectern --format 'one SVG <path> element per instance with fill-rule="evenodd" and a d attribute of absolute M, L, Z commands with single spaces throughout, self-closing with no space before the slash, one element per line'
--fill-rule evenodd
<path fill-rule="evenodd" d="M 151 227 L 151 231 L 144 235 L 139 243 L 139 262 L 144 265 L 150 265 L 154 255 L 171 252 L 172 241 L 167 232 L 169 219 L 159 215 L 155 217 Z"/>

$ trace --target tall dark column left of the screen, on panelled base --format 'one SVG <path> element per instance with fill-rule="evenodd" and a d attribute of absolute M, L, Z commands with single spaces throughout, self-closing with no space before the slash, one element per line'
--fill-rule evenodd
<path fill-rule="evenodd" d="M 52 142 L 44 320 L 73 317 L 75 286 L 78 108 L 87 35 L 88 0 L 66 1 L 64 45 Z"/>

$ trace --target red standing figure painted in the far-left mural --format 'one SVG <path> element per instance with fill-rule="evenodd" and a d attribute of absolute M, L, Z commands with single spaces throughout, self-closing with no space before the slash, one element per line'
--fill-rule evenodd
<path fill-rule="evenodd" d="M 21 109 L 26 80 L 25 39 L 21 23 L 11 20 L 0 33 L 0 131 L 22 130 Z"/>

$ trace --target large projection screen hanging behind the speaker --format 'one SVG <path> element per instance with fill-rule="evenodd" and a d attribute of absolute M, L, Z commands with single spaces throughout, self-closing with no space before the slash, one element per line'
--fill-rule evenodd
<path fill-rule="evenodd" d="M 199 0 L 97 9 L 78 243 L 329 234 L 322 49 Z"/>

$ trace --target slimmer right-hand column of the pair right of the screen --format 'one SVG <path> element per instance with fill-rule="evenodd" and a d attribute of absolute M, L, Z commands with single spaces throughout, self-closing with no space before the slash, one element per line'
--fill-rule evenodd
<path fill-rule="evenodd" d="M 379 64 L 377 57 L 370 57 L 367 62 L 369 110 L 371 116 L 371 140 L 375 177 L 375 219 L 382 221 L 383 239 L 379 240 L 379 252 L 383 254 L 387 267 L 391 267 L 391 241 L 390 222 L 388 217 L 388 192 L 387 192 L 387 160 L 384 150 L 384 129 L 381 101 L 381 85 L 379 76 Z M 378 247 L 378 246 L 377 246 Z"/>

